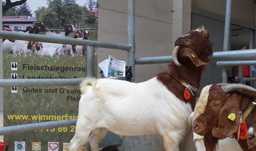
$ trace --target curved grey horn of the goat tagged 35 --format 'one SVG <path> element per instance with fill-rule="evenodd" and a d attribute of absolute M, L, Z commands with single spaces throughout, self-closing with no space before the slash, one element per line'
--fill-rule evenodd
<path fill-rule="evenodd" d="M 218 85 L 221 85 L 221 88 L 225 93 L 235 91 L 235 90 L 247 90 L 250 92 L 256 92 L 256 89 L 248 86 L 248 85 L 243 85 L 243 84 L 238 84 L 238 83 L 233 83 L 233 84 L 228 84 L 228 83 L 220 83 Z"/>

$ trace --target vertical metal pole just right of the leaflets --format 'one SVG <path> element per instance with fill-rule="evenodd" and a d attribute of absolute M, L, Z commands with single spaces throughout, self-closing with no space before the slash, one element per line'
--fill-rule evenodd
<path fill-rule="evenodd" d="M 130 82 L 135 82 L 135 0 L 128 0 L 128 66 L 131 66 L 133 77 Z"/>

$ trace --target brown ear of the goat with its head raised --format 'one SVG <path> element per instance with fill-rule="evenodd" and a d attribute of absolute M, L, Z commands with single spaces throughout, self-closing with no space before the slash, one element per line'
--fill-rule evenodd
<path fill-rule="evenodd" d="M 180 57 L 185 58 L 188 57 L 196 66 L 206 65 L 205 62 L 202 62 L 198 56 L 194 53 L 190 48 L 182 48 L 180 50 Z"/>

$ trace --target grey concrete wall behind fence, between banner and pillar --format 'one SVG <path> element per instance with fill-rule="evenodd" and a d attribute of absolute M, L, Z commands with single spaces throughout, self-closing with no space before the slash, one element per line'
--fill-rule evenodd
<path fill-rule="evenodd" d="M 98 41 L 127 43 L 127 0 L 100 0 L 99 4 Z M 136 58 L 171 55 L 171 10 L 172 0 L 135 1 Z M 98 48 L 98 63 L 109 55 L 127 62 L 126 51 Z M 151 79 L 161 71 L 167 71 L 166 64 L 136 65 L 135 81 Z"/>

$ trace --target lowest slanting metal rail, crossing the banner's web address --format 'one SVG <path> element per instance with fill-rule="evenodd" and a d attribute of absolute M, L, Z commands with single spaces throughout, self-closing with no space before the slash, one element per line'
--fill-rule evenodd
<path fill-rule="evenodd" d="M 36 131 L 41 129 L 51 129 L 64 126 L 76 125 L 77 119 L 71 120 L 59 120 L 59 121 L 50 121 L 50 122 L 41 122 L 41 123 L 32 123 L 32 124 L 23 124 L 15 126 L 5 126 L 0 128 L 0 135 L 10 135 L 17 133 L 24 133 L 27 131 Z"/>

